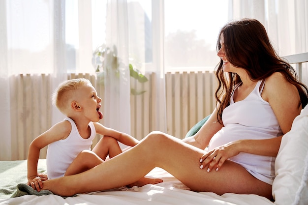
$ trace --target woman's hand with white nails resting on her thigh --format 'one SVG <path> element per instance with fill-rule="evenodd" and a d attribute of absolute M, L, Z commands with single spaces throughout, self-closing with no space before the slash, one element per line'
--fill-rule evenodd
<path fill-rule="evenodd" d="M 225 145 L 218 146 L 204 154 L 200 159 L 200 169 L 203 169 L 208 165 L 207 172 L 211 172 L 213 169 L 218 171 L 227 159 L 240 153 L 240 143 L 240 140 L 230 142 Z"/>

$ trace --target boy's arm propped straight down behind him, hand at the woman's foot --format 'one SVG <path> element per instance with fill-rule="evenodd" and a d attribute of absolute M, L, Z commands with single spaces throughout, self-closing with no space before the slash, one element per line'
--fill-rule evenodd
<path fill-rule="evenodd" d="M 29 146 L 28 152 L 28 185 L 30 185 L 33 189 L 39 191 L 40 188 L 43 187 L 43 184 L 37 177 L 37 162 L 39 158 L 40 149 L 61 139 L 65 139 L 71 131 L 70 122 L 64 120 L 49 130 L 44 132 L 43 134 L 36 137 Z M 32 183 L 33 182 L 33 183 Z"/>

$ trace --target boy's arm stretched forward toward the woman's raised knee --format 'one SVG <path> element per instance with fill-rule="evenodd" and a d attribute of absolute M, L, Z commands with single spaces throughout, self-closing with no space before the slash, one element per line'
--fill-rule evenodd
<path fill-rule="evenodd" d="M 95 126 L 95 130 L 97 134 L 113 137 L 116 140 L 118 140 L 120 143 L 123 143 L 124 145 L 135 146 L 139 143 L 139 141 L 136 138 L 126 133 L 119 132 L 117 130 L 105 127 L 98 122 L 95 122 L 94 126 Z"/>

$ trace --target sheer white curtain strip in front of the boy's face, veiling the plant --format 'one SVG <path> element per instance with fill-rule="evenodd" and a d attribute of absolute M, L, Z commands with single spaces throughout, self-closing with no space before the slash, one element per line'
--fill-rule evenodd
<path fill-rule="evenodd" d="M 107 3 L 106 48 L 117 57 L 105 53 L 105 109 L 107 127 L 130 134 L 130 76 L 128 63 L 128 15 L 126 0 Z M 118 60 L 118 62 L 114 62 Z"/>

